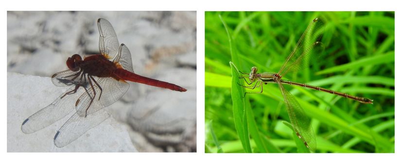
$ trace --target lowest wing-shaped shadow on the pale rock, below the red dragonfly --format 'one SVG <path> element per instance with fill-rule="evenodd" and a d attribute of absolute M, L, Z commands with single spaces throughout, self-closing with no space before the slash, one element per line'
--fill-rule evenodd
<path fill-rule="evenodd" d="M 74 113 L 60 130 L 57 131 L 54 136 L 54 145 L 64 147 L 70 144 L 88 130 L 105 121 L 109 116 L 110 114 L 103 110 L 91 113 L 87 117 Z"/>

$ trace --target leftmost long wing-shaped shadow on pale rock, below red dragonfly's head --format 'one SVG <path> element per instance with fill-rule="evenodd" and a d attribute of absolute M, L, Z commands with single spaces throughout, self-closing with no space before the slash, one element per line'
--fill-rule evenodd
<path fill-rule="evenodd" d="M 70 94 L 65 97 L 63 96 L 67 92 L 74 90 L 74 88 L 75 86 L 71 87 L 50 105 L 25 119 L 21 125 L 22 132 L 33 133 L 37 130 L 41 130 L 71 113 L 74 110 L 74 103 L 79 95 Z M 80 94 L 82 90 L 78 89 L 76 93 Z"/>

